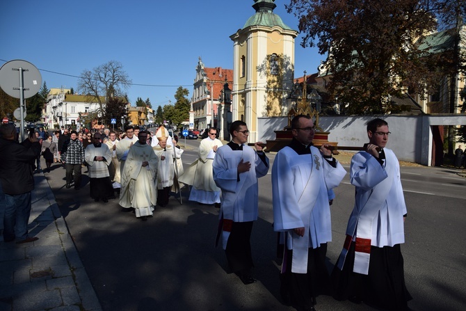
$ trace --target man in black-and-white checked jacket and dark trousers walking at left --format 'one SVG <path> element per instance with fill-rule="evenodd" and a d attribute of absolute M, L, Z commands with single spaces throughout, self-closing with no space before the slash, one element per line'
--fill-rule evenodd
<path fill-rule="evenodd" d="M 71 131 L 70 139 L 63 143 L 61 161 L 66 169 L 66 188 L 71 188 L 74 180 L 74 190 L 81 189 L 81 164 L 84 161 L 83 143 L 78 140 L 77 131 Z"/>

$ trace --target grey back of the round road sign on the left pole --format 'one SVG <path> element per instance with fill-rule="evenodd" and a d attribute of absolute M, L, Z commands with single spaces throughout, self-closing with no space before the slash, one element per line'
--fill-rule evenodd
<path fill-rule="evenodd" d="M 22 77 L 21 77 L 22 74 Z M 4 63 L 0 68 L 0 87 L 11 97 L 21 98 L 21 83 L 24 97 L 29 98 L 37 94 L 42 86 L 39 70 L 28 61 L 14 60 Z"/>

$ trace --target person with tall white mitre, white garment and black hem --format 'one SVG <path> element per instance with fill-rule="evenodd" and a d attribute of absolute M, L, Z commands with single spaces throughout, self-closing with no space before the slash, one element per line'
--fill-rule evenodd
<path fill-rule="evenodd" d="M 159 158 L 159 167 L 157 170 L 157 204 L 164 207 L 168 204 L 170 197 L 170 188 L 173 186 L 175 178 L 175 160 L 181 159 L 184 150 L 172 147 L 167 144 L 168 130 L 161 126 L 157 129 L 155 136 L 159 144 L 153 147 L 155 155 Z M 172 141 L 176 146 L 176 142 Z"/>

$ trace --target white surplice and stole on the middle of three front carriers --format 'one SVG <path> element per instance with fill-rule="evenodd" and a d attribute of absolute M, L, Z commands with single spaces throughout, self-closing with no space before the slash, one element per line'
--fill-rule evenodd
<path fill-rule="evenodd" d="M 287 248 L 293 250 L 291 272 L 307 273 L 308 248 L 332 241 L 329 198 L 346 170 L 334 168 L 316 147 L 311 154 L 297 154 L 291 147 L 280 150 L 273 161 L 273 227 L 287 232 Z M 294 228 L 305 228 L 304 237 Z"/>

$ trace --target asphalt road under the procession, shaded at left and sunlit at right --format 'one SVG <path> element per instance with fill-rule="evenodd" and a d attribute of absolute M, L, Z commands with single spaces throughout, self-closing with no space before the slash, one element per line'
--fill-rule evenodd
<path fill-rule="evenodd" d="M 186 141 L 185 165 L 195 159 L 198 143 Z M 273 161 L 274 154 L 269 157 Z M 120 212 L 118 200 L 91 200 L 86 174 L 86 186 L 79 191 L 65 189 L 65 170 L 59 166 L 46 176 L 103 310 L 294 310 L 279 300 L 271 175 L 259 183 L 259 220 L 252 234 L 259 282 L 248 286 L 225 271 L 223 250 L 214 248 L 218 209 L 189 202 L 187 189 L 183 205 L 172 197 L 142 222 Z M 403 168 L 402 177 L 409 208 L 402 249 L 414 297 L 410 307 L 464 310 L 466 180 L 454 170 L 424 167 Z M 329 268 L 344 241 L 354 189 L 346 177 L 335 192 Z M 316 308 L 371 310 L 327 296 L 318 298 Z"/>

